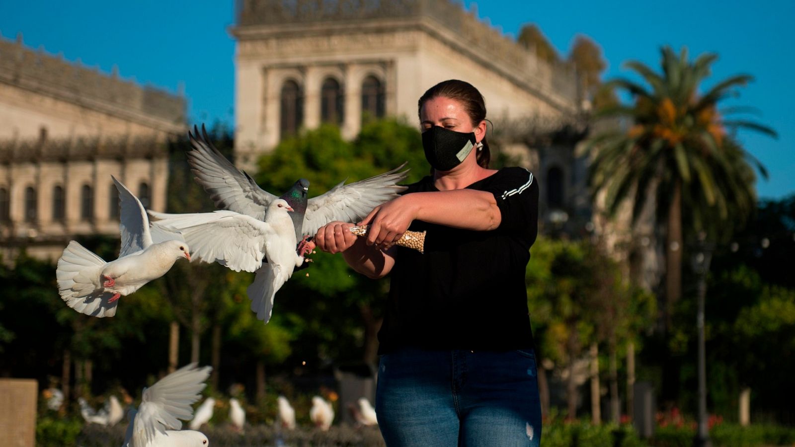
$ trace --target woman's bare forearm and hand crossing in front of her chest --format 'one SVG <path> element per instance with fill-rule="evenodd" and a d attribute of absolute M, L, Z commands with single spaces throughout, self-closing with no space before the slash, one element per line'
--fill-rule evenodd
<path fill-rule="evenodd" d="M 370 224 L 367 243 L 391 245 L 415 219 L 466 230 L 494 230 L 502 222 L 491 192 L 474 189 L 415 192 L 374 208 L 360 224 Z"/>

